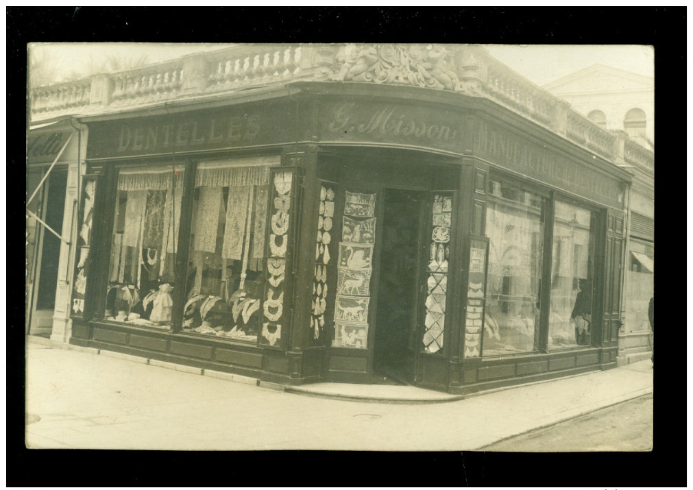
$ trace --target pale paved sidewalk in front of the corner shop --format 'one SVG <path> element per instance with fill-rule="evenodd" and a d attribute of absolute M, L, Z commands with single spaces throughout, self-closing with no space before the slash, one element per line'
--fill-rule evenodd
<path fill-rule="evenodd" d="M 652 392 L 648 360 L 466 399 L 421 390 L 437 403 L 369 403 L 37 342 L 27 349 L 30 448 L 474 450 Z"/>

